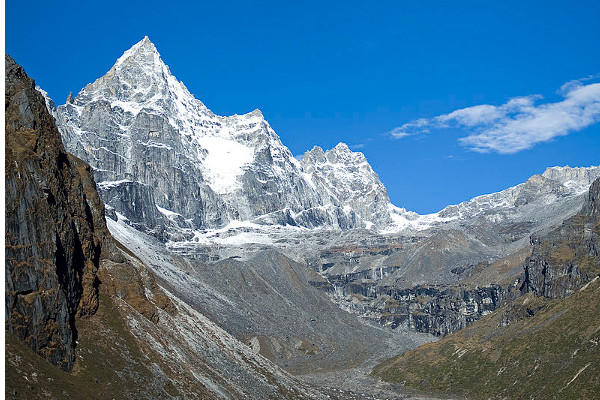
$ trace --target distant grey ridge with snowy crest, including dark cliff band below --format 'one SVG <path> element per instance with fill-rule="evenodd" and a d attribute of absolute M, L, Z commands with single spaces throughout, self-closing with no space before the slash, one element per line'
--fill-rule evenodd
<path fill-rule="evenodd" d="M 509 287 L 522 284 L 532 235 L 539 237 L 577 213 L 599 174 L 598 167 L 553 167 L 501 192 L 413 216 L 397 232 L 306 234 L 301 244 L 290 238 L 277 246 L 304 254 L 326 279 L 320 287 L 340 307 L 383 325 L 443 336 L 512 296 Z M 550 279 L 541 275 L 543 264 L 536 265 L 532 282 Z M 570 270 L 565 264 L 560 276 Z M 563 289 L 555 283 L 553 290 L 568 290 L 565 279 L 559 279 Z"/>

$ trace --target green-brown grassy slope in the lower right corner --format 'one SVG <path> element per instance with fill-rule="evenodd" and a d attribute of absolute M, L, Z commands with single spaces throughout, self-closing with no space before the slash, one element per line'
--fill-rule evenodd
<path fill-rule="evenodd" d="M 535 311 L 528 315 L 527 310 Z M 503 315 L 521 315 L 501 327 Z M 405 386 L 470 398 L 598 399 L 600 282 L 567 299 L 523 296 L 373 373 Z"/>

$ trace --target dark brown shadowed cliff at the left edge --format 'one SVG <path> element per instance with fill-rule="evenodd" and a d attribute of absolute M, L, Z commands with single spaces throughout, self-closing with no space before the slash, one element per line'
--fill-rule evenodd
<path fill-rule="evenodd" d="M 109 235 L 90 168 L 68 154 L 32 79 L 5 56 L 6 327 L 52 364 L 75 361 L 75 317 L 98 307 Z"/>

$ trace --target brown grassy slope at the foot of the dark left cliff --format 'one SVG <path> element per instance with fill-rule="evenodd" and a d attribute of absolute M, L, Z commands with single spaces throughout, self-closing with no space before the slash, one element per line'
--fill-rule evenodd
<path fill-rule="evenodd" d="M 153 360 L 140 351 L 111 296 L 101 293 L 98 312 L 80 319 L 77 326 L 78 357 L 71 373 L 50 365 L 6 334 L 7 399 L 142 399 L 178 394 L 169 379 L 155 378 L 150 370 Z M 197 395 L 206 394 L 202 389 L 196 388 Z"/>

